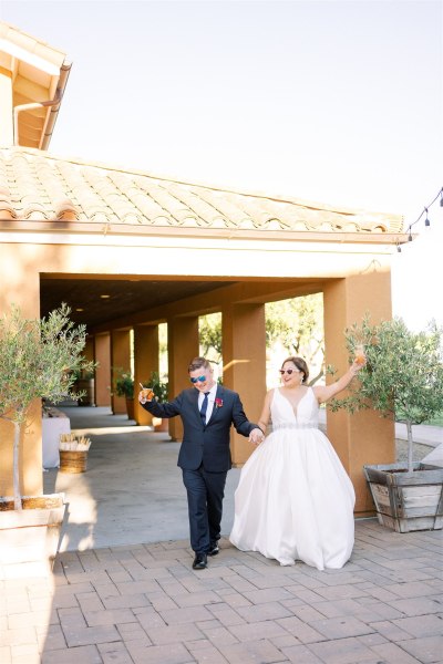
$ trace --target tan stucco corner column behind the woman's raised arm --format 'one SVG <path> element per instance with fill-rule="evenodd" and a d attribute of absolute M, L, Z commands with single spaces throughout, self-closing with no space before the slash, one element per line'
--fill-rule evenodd
<path fill-rule="evenodd" d="M 390 272 L 374 271 L 328 282 L 323 298 L 326 364 L 332 364 L 340 376 L 349 366 L 344 330 L 352 323 L 360 324 L 367 312 L 372 323 L 391 319 Z M 333 380 L 329 376 L 327 382 Z M 328 409 L 327 418 L 328 437 L 356 488 L 356 515 L 372 513 L 373 502 L 362 468 L 365 464 L 394 460 L 394 424 L 373 411 L 351 415 L 344 409 Z"/>

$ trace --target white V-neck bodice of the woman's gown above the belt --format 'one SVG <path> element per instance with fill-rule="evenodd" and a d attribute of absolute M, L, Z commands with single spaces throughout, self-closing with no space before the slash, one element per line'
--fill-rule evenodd
<path fill-rule="evenodd" d="M 290 402 L 276 387 L 270 405 L 272 430 L 281 428 L 318 428 L 319 405 L 312 387 L 308 387 L 293 411 Z"/>

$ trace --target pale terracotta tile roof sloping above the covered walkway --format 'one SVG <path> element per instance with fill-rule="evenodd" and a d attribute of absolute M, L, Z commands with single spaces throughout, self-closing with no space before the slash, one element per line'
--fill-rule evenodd
<path fill-rule="evenodd" d="M 317 232 L 401 232 L 402 217 L 334 209 L 140 172 L 0 149 L 0 218 Z"/>

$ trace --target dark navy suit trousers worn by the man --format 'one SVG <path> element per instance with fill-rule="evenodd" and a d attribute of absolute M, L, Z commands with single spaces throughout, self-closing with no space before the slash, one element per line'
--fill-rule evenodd
<path fill-rule="evenodd" d="M 223 499 L 227 471 L 208 473 L 203 465 L 197 470 L 183 471 L 187 491 L 190 547 L 206 553 L 220 539 Z"/>

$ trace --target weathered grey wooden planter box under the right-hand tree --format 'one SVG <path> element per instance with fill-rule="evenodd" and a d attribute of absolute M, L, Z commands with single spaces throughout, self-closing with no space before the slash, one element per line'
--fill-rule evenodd
<path fill-rule="evenodd" d="M 396 532 L 441 530 L 443 527 L 443 468 L 414 464 L 363 466 L 379 523 Z"/>

